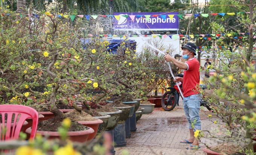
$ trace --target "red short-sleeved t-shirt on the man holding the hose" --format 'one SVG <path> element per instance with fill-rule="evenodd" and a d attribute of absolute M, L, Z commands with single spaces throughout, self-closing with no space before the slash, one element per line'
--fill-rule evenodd
<path fill-rule="evenodd" d="M 183 76 L 183 96 L 187 97 L 194 94 L 199 94 L 196 87 L 199 85 L 200 72 L 199 72 L 199 61 L 196 58 L 189 59 L 185 64 L 187 64 L 188 69 L 184 71 Z"/>

